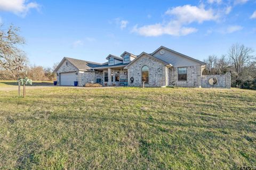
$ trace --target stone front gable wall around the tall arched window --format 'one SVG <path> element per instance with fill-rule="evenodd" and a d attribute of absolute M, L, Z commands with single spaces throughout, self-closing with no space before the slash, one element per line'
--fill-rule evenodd
<path fill-rule="evenodd" d="M 140 59 L 132 63 L 128 67 L 128 85 L 130 86 L 142 86 L 141 82 L 141 68 L 147 66 L 149 68 L 149 83 L 145 86 L 162 87 L 166 86 L 166 74 L 168 74 L 167 67 L 164 63 L 151 58 L 147 55 L 141 56 Z M 133 83 L 131 82 L 133 77 Z"/>

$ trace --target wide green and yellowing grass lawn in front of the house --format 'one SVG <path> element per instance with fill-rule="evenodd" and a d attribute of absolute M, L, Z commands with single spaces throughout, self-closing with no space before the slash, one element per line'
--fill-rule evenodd
<path fill-rule="evenodd" d="M 256 168 L 256 91 L 0 91 L 0 169 Z"/>

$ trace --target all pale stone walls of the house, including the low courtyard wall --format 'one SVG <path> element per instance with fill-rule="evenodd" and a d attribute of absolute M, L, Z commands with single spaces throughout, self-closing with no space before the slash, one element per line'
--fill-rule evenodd
<path fill-rule="evenodd" d="M 202 75 L 202 66 L 189 66 L 187 68 L 187 80 L 178 80 L 178 67 L 166 67 L 166 65 L 150 56 L 143 55 L 137 61 L 132 63 L 128 69 L 105 69 L 98 71 L 79 71 L 68 60 L 62 63 L 57 71 L 57 81 L 60 82 L 60 75 L 63 72 L 77 72 L 78 86 L 83 86 L 86 83 L 96 82 L 97 78 L 101 79 L 104 84 L 104 72 L 108 72 L 108 85 L 111 86 L 115 82 L 115 75 L 119 74 L 119 79 L 125 79 L 129 86 L 142 86 L 141 68 L 149 67 L 149 83 L 145 86 L 179 86 L 179 87 L 204 87 L 204 88 L 230 88 L 231 76 L 228 72 L 226 75 Z M 113 75 L 113 81 L 112 76 Z M 130 78 L 134 81 L 131 83 Z M 217 83 L 214 85 L 209 82 L 215 78 Z M 106 82 L 107 83 L 107 82 Z"/>

